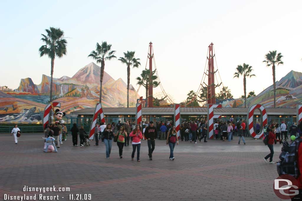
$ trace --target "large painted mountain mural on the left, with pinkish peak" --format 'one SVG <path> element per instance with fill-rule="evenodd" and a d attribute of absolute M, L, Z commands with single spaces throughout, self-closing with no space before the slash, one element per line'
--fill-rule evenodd
<path fill-rule="evenodd" d="M 90 63 L 74 76 L 53 78 L 53 99 L 61 102 L 61 111 L 69 114 L 82 108 L 95 107 L 100 94 L 101 68 Z M 127 106 L 127 84 L 119 78 L 114 80 L 104 72 L 102 90 L 103 107 Z M 42 112 L 49 102 L 50 77 L 42 75 L 40 84 L 31 78 L 21 79 L 13 92 L 0 91 L 0 123 L 41 123 Z M 129 105 L 134 107 L 140 96 L 133 86 L 129 90 Z"/>

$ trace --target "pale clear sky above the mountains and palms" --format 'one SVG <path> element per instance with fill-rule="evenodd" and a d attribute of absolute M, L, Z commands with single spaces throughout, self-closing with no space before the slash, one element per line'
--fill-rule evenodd
<path fill-rule="evenodd" d="M 50 59 L 40 57 L 41 33 L 61 28 L 67 55 L 56 58 L 53 77 L 72 77 L 93 60 L 97 42 L 116 50 L 135 51 L 141 67 L 131 69 L 130 83 L 146 66 L 152 41 L 159 78 L 165 91 L 182 102 L 197 91 L 204 72 L 207 47 L 214 43 L 218 70 L 234 98 L 243 95 L 243 77 L 234 78 L 239 64 L 247 63 L 256 77 L 247 79 L 247 93 L 260 93 L 273 83 L 272 70 L 262 61 L 268 51 L 284 56 L 276 80 L 289 71 L 302 72 L 302 1 L 1 1 L 0 86 L 16 89 L 20 79 L 39 84 L 50 75 Z M 14 53 L 14 54 L 13 54 Z M 95 61 L 94 61 L 95 62 Z M 148 68 L 148 65 L 147 65 Z M 127 82 L 126 65 L 106 61 L 105 71 Z M 216 88 L 219 91 L 219 88 Z M 153 89 L 153 94 L 160 93 Z M 144 89 L 139 94 L 145 94 Z"/>

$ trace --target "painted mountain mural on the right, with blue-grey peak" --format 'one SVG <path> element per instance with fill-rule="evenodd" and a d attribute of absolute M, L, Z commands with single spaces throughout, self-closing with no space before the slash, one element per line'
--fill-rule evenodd
<path fill-rule="evenodd" d="M 269 86 L 257 96 L 246 99 L 247 107 L 254 104 L 263 104 L 265 107 L 274 107 L 273 85 Z M 290 71 L 276 82 L 276 107 L 295 108 L 302 102 L 302 73 Z M 244 99 L 224 101 L 223 107 L 244 107 Z"/>

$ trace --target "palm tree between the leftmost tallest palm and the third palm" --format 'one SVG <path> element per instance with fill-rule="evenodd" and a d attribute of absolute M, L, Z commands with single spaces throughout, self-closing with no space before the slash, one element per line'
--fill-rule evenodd
<path fill-rule="evenodd" d="M 102 102 L 102 83 L 104 77 L 104 68 L 105 68 L 105 60 L 111 60 L 112 58 L 116 58 L 114 56 L 114 50 L 111 50 L 111 44 L 107 44 L 106 41 L 102 42 L 102 44 L 96 43 L 96 49 L 90 52 L 88 57 L 91 57 L 96 60 L 96 63 L 101 63 L 101 74 L 100 74 L 100 103 Z"/>

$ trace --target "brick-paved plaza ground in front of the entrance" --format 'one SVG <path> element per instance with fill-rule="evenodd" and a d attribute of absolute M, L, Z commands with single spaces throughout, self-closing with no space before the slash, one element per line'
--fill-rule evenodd
<path fill-rule="evenodd" d="M 91 200 L 280 200 L 273 191 L 278 177 L 276 164 L 263 157 L 269 149 L 261 140 L 232 142 L 208 140 L 175 146 L 175 160 L 169 160 L 169 146 L 156 140 L 153 160 L 148 160 L 146 140 L 140 159 L 131 161 L 132 146 L 124 147 L 123 159 L 112 143 L 110 159 L 105 145 L 75 147 L 71 136 L 57 153 L 43 153 L 42 133 L 22 133 L 14 137 L 0 134 L 0 200 L 4 194 L 33 195 L 23 187 L 69 187 L 69 192 L 46 192 L 69 200 L 69 194 L 91 194 Z M 94 141 L 91 141 L 94 144 Z M 273 161 L 278 161 L 281 145 L 274 145 Z M 37 200 L 39 192 L 37 194 Z M 64 197 L 64 198 L 62 198 Z"/>

